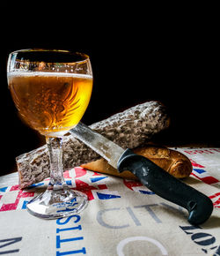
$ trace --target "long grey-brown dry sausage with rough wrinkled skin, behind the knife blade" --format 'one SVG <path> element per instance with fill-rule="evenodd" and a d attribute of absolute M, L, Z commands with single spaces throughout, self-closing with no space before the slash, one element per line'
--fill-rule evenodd
<path fill-rule="evenodd" d="M 169 126 L 170 117 L 159 102 L 144 102 L 90 125 L 90 128 L 123 148 L 140 147 Z M 71 135 L 62 139 L 63 169 L 100 158 L 99 154 Z M 19 188 L 49 177 L 48 147 L 44 145 L 16 157 Z"/>

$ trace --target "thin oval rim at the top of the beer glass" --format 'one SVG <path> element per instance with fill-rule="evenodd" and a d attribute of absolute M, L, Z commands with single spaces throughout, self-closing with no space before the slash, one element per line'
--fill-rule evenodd
<path fill-rule="evenodd" d="M 87 61 L 90 60 L 90 56 L 88 56 L 87 54 L 83 53 L 83 52 L 79 52 L 79 51 L 73 51 L 73 50 L 70 50 L 70 49 L 43 49 L 43 48 L 33 48 L 33 49 L 18 49 L 18 50 L 14 50 L 12 51 L 9 56 L 13 56 L 13 55 L 16 55 L 18 53 L 28 53 L 28 52 L 51 52 L 51 53 L 66 53 L 66 54 L 70 54 L 70 56 L 81 56 L 82 59 L 81 60 L 78 60 L 78 61 L 59 61 L 58 63 L 59 64 L 83 64 L 83 63 L 86 63 Z M 16 59 L 16 62 L 29 62 L 29 63 L 40 63 L 40 62 L 44 62 L 44 63 L 48 63 L 48 64 L 53 64 L 53 63 L 56 63 L 56 62 L 50 62 L 50 61 L 43 61 L 43 60 L 39 60 L 39 61 L 30 61 L 28 59 Z"/>

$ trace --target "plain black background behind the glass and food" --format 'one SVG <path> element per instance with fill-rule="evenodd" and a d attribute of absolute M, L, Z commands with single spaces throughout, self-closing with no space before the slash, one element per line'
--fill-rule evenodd
<path fill-rule="evenodd" d="M 0 55 L 0 175 L 14 169 L 15 156 L 44 143 L 20 121 L 7 88 L 7 57 L 17 49 L 71 49 L 91 57 L 94 83 L 85 124 L 155 100 L 165 104 L 171 117 L 170 128 L 156 138 L 158 143 L 220 146 L 215 15 L 211 19 L 206 12 L 197 16 L 194 9 L 191 13 L 177 11 L 171 18 L 158 10 L 154 15 L 149 10 L 139 12 L 142 8 L 134 13 L 130 7 L 125 17 L 115 9 L 102 16 L 95 12 L 88 16 L 79 9 L 76 17 L 76 10 L 68 11 L 68 6 L 66 14 L 63 9 L 40 12 L 35 6 L 7 10 Z"/>

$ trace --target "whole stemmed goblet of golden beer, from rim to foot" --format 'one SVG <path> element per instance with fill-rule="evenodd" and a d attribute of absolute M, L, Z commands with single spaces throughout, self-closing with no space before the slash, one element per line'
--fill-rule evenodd
<path fill-rule="evenodd" d="M 46 136 L 50 181 L 46 192 L 27 204 L 38 217 L 55 219 L 78 214 L 87 196 L 62 176 L 62 137 L 84 115 L 92 94 L 92 66 L 83 53 L 57 49 L 24 49 L 10 54 L 8 86 L 20 117 Z"/>

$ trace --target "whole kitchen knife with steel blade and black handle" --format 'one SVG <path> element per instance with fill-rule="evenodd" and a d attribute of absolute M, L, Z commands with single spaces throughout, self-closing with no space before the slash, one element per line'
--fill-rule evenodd
<path fill-rule="evenodd" d="M 173 177 L 148 158 L 134 154 L 130 149 L 124 150 L 81 122 L 70 133 L 105 158 L 119 172 L 131 171 L 150 191 L 186 208 L 189 214 L 187 220 L 191 224 L 202 224 L 209 219 L 213 211 L 209 197 Z"/>

